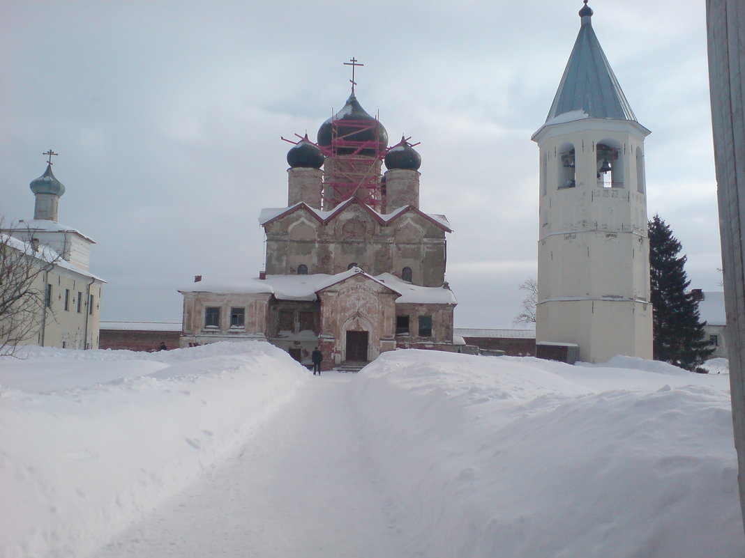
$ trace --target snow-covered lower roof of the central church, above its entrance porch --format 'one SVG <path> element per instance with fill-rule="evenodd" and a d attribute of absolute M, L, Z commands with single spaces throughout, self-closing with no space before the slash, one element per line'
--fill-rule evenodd
<path fill-rule="evenodd" d="M 266 279 L 231 279 L 231 280 L 201 280 L 191 283 L 179 292 L 214 292 L 233 294 L 256 294 L 270 292 L 275 298 L 283 301 L 315 301 L 317 292 L 328 286 L 339 283 L 353 275 L 362 274 L 387 288 L 399 292 L 401 296 L 396 304 L 457 304 L 455 295 L 444 287 L 418 286 L 407 283 L 390 273 L 381 275 L 367 275 L 359 268 L 348 269 L 346 272 L 328 275 L 317 273 L 314 275 L 267 275 Z"/>

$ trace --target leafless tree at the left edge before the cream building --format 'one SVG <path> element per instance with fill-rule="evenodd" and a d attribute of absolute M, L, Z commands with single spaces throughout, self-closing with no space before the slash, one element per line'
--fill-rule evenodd
<path fill-rule="evenodd" d="M 61 259 L 37 240 L 20 240 L 18 232 L 0 219 L 0 356 L 30 341 L 51 315 L 46 276 Z"/>

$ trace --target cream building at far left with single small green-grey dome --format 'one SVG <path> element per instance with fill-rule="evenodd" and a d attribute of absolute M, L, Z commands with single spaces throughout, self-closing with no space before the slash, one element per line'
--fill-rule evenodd
<path fill-rule="evenodd" d="M 37 275 L 32 288 L 44 293 L 44 304 L 25 316 L 32 333 L 19 344 L 71 349 L 98 348 L 98 324 L 104 280 L 89 271 L 90 247 L 94 241 L 77 229 L 57 222 L 57 209 L 65 186 L 52 173 L 31 182 L 34 219 L 19 220 L 13 228 L 0 230 L 11 235 L 8 249 L 28 254 L 39 266 L 54 263 Z M 0 319 L 0 336 L 7 339 L 6 323 Z"/>

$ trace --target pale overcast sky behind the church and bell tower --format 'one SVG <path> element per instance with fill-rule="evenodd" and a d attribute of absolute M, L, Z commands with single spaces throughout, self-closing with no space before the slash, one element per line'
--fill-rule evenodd
<path fill-rule="evenodd" d="M 648 212 L 694 287 L 721 289 L 704 2 L 592 0 L 645 142 Z M 446 214 L 457 327 L 512 327 L 536 276 L 538 147 L 577 0 L 0 0 L 0 214 L 31 219 L 53 149 L 60 222 L 93 246 L 102 318 L 180 321 L 194 275 L 258 275 L 292 137 L 349 95 L 422 155 Z"/>

